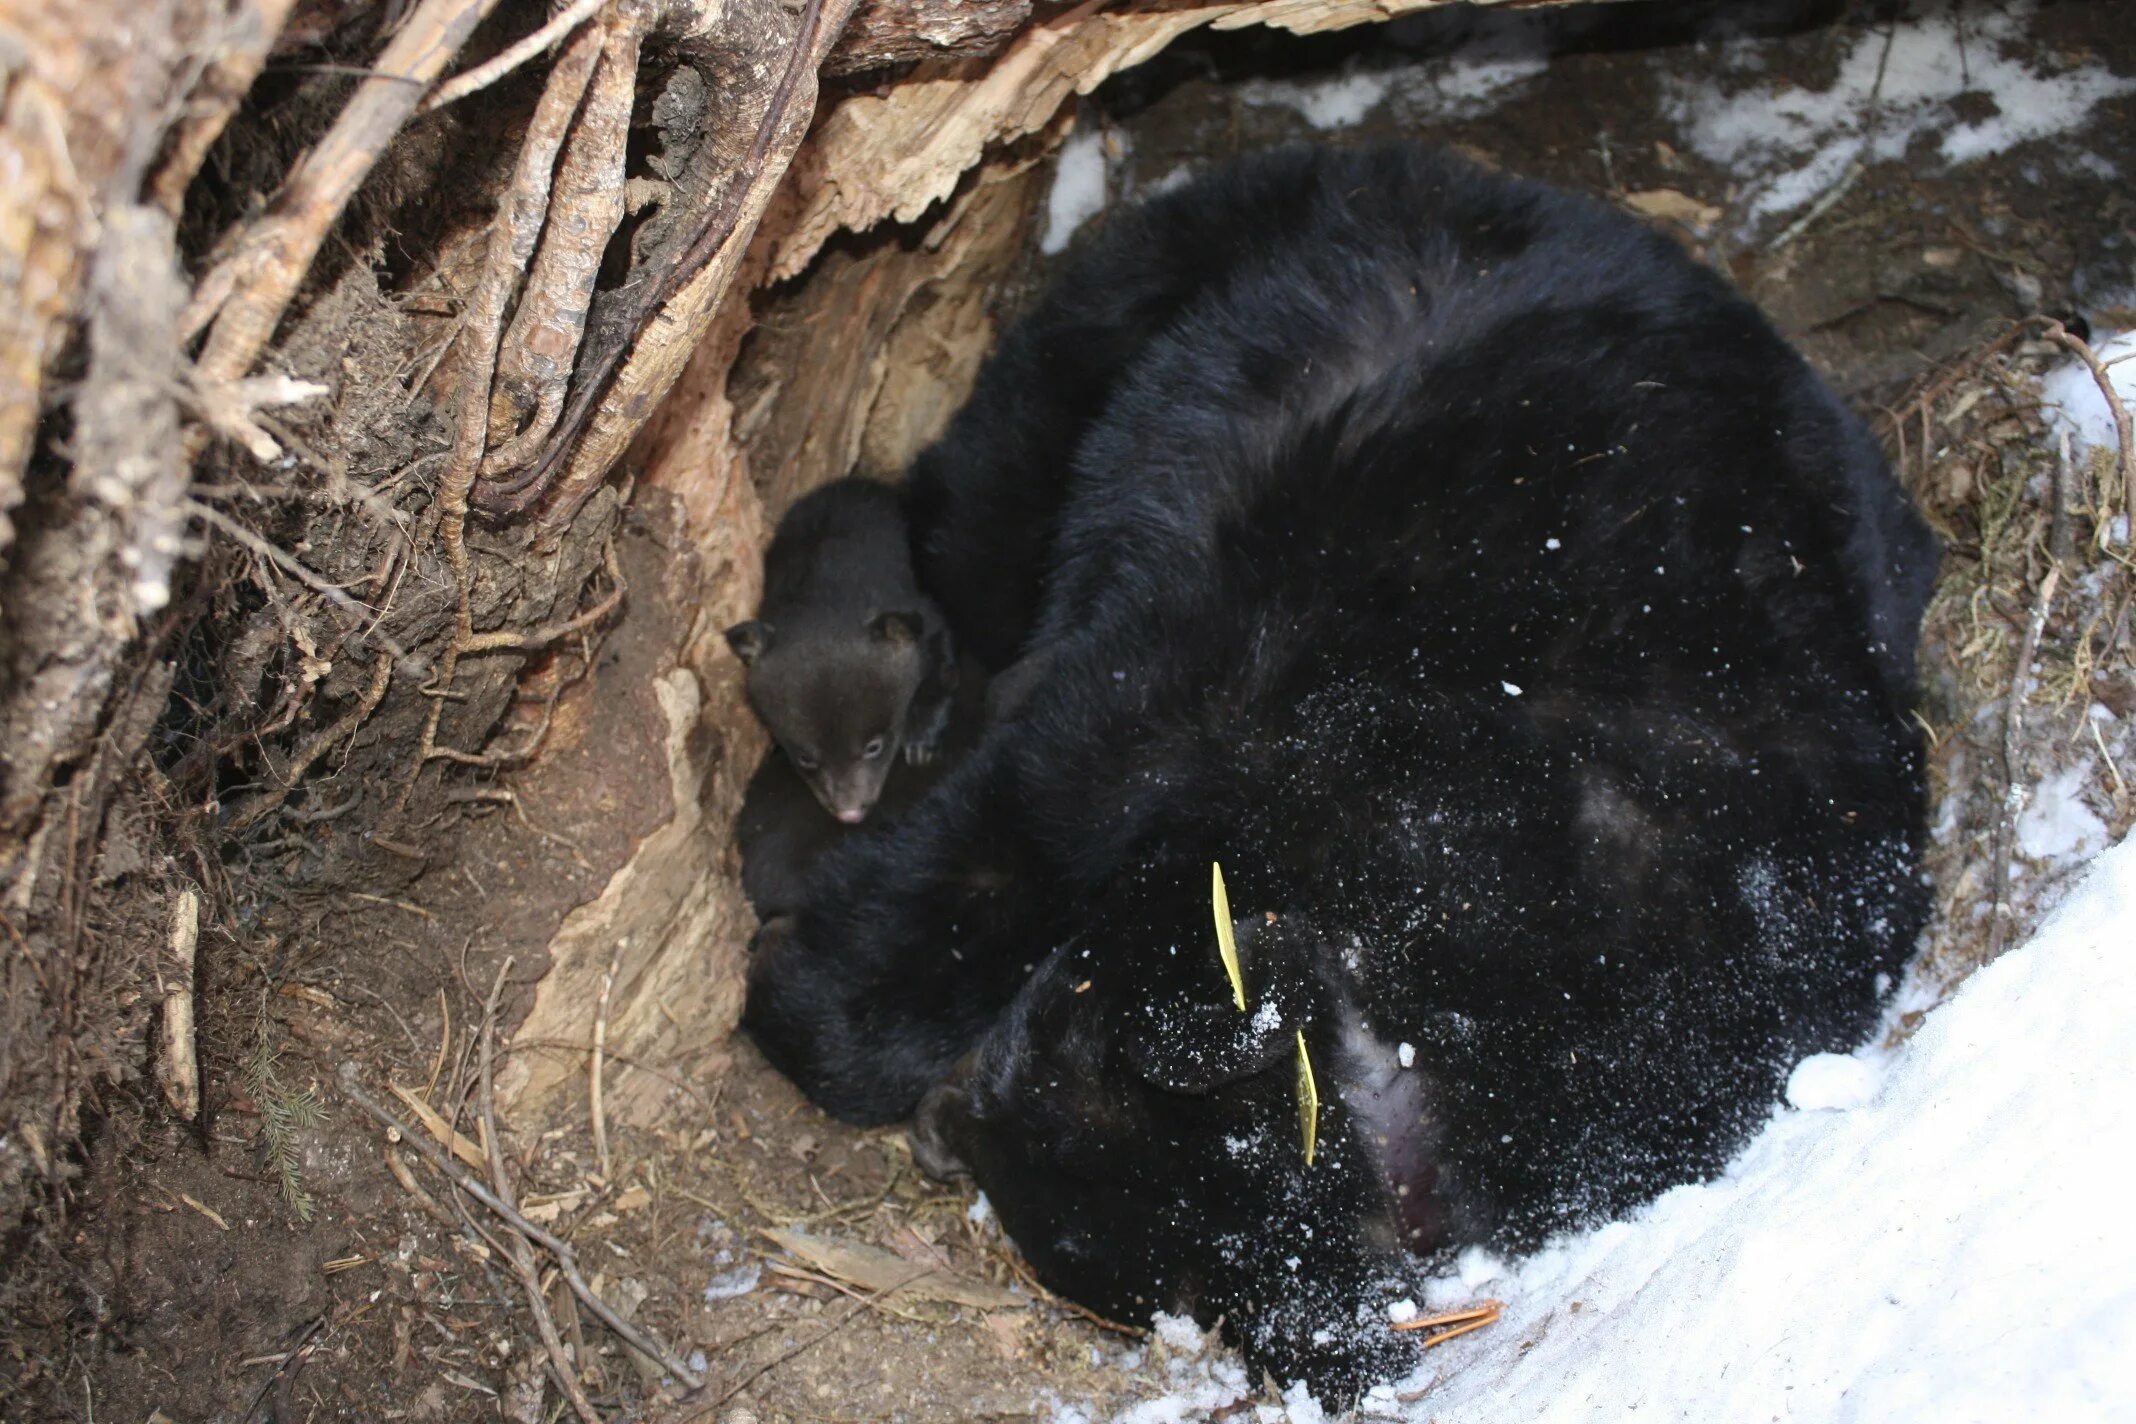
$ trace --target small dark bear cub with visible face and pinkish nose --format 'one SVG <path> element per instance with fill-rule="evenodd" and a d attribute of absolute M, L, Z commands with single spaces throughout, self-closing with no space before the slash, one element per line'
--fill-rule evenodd
<path fill-rule="evenodd" d="M 867 816 L 899 756 L 933 760 L 957 664 L 889 485 L 846 478 L 795 500 L 765 551 L 763 604 L 726 643 L 756 715 L 833 816 Z"/>

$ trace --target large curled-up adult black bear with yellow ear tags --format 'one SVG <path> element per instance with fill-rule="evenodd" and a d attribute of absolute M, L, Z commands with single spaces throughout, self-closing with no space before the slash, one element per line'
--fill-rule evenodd
<path fill-rule="evenodd" d="M 1224 169 L 1111 220 L 912 482 L 1025 692 L 818 867 L 748 1027 L 842 1117 L 927 1095 L 923 1155 L 1100 1311 L 1399 1373 L 1420 1257 L 1713 1172 L 1922 924 L 1933 540 L 1619 213 L 1412 149 Z"/>

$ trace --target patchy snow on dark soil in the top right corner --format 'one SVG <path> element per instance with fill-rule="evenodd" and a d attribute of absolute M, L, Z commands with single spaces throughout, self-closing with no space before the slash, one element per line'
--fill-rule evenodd
<path fill-rule="evenodd" d="M 2053 43 L 2027 43 L 2038 9 L 1912 4 L 1897 23 L 1850 41 L 1818 90 L 1771 79 L 1758 41 L 1732 38 L 1719 73 L 1664 70 L 1664 111 L 1700 156 L 1760 181 L 1756 216 L 1786 213 L 1856 160 L 1899 160 L 1933 143 L 1946 164 L 1972 162 L 2070 132 L 2102 100 L 2136 90 L 2136 79 L 2068 60 Z M 1961 94 L 1986 96 L 1993 113 L 1959 117 Z M 1972 105 L 1978 111 L 1978 98 Z"/>

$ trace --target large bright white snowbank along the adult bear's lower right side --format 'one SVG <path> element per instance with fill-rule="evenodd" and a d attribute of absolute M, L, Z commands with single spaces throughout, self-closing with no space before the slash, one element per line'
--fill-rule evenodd
<path fill-rule="evenodd" d="M 2130 927 L 2125 841 L 1912 1040 L 1807 1059 L 1792 1106 L 1717 1181 L 1519 1264 L 1465 1253 L 1425 1304 L 1489 1287 L 1504 1319 L 1373 1390 L 1361 1415 L 2136 1418 Z M 1207 1418 L 1243 1398 L 1237 1362 L 1209 1351 L 1168 1360 L 1164 1396 L 1119 1420 Z M 1228 1418 L 1320 1418 L 1307 1407 L 1290 1392 Z"/>

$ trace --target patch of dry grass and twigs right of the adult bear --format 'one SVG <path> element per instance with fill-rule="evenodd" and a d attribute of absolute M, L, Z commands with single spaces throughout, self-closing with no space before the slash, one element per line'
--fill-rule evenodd
<path fill-rule="evenodd" d="M 1882 431 L 1946 547 L 1920 643 L 1931 997 L 2021 942 L 2076 869 L 2019 835 L 2044 784 L 2074 771 L 2113 837 L 2136 820 L 2125 487 L 2115 450 L 2063 459 L 2038 378 L 2066 354 L 2025 335 L 1920 382 Z"/>

